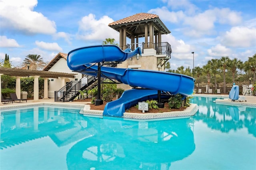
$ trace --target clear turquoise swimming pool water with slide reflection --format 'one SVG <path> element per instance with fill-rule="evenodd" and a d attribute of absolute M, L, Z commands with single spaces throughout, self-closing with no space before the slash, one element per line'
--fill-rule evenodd
<path fill-rule="evenodd" d="M 80 109 L 2 111 L 1 170 L 252 170 L 256 108 L 194 97 L 196 115 L 161 121 L 88 117 Z"/>

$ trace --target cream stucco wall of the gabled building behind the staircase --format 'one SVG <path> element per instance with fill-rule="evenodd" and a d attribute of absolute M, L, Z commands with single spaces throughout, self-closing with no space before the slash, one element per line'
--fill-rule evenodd
<path fill-rule="evenodd" d="M 66 73 L 76 73 L 72 72 L 70 68 L 68 68 L 67 61 L 64 58 L 61 58 L 57 63 L 55 63 L 52 68 L 49 69 L 49 71 L 53 72 L 66 72 Z M 82 74 L 78 73 L 75 78 L 65 78 L 65 84 L 66 82 L 74 81 L 75 79 L 80 80 L 82 78 Z M 62 85 L 62 78 L 48 78 L 49 84 L 48 84 L 48 97 L 54 98 L 54 91 L 60 90 L 60 88 L 63 87 Z"/>

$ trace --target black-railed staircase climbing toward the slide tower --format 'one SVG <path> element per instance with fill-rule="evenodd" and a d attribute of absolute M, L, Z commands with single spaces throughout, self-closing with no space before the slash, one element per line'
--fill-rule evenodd
<path fill-rule="evenodd" d="M 116 62 L 107 62 L 105 66 L 116 67 Z M 98 78 L 96 76 L 85 75 L 79 81 L 70 81 L 66 86 L 62 87 L 58 91 L 54 91 L 55 102 L 71 102 L 80 93 L 79 90 L 93 89 L 98 86 Z M 102 79 L 103 80 L 103 79 Z"/>

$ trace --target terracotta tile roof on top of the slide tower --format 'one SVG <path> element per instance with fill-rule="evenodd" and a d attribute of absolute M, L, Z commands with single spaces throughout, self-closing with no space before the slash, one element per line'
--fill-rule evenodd
<path fill-rule="evenodd" d="M 153 18 L 159 18 L 159 16 L 155 15 L 155 14 L 139 13 L 139 14 L 135 14 L 133 16 L 123 18 L 123 19 L 118 20 L 118 21 L 114 21 L 114 22 L 108 24 L 108 26 L 118 25 L 118 24 L 122 24 L 122 23 L 131 23 L 131 22 L 136 22 L 136 21 L 150 20 L 150 19 L 153 19 Z"/>

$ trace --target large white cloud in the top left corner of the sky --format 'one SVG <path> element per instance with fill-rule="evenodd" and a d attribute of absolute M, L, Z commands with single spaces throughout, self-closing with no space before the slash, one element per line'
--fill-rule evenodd
<path fill-rule="evenodd" d="M 1 27 L 28 34 L 55 33 L 55 22 L 48 20 L 43 14 L 33 11 L 36 5 L 37 0 L 1 0 Z"/>

